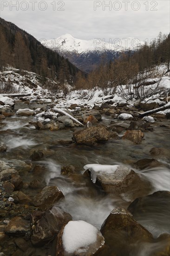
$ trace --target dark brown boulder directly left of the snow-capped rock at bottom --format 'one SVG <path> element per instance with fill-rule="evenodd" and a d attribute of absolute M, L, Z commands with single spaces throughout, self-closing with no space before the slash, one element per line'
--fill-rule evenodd
<path fill-rule="evenodd" d="M 52 240 L 72 216 L 59 207 L 53 206 L 46 212 L 35 211 L 31 216 L 33 235 L 31 242 L 34 246 L 42 246 Z"/>

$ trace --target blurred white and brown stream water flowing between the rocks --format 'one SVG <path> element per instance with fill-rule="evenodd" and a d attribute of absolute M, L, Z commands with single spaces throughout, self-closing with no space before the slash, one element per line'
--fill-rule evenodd
<path fill-rule="evenodd" d="M 8 150 L 1 158 L 2 160 L 18 159 L 30 162 L 30 155 L 35 149 L 44 152 L 45 159 L 35 162 L 45 166 L 45 180 L 47 185 L 58 186 L 65 195 L 65 199 L 57 203 L 66 212 L 72 215 L 73 220 L 84 220 L 100 229 L 111 210 L 117 206 L 127 208 L 131 202 L 124 196 L 120 198 L 116 195 L 105 195 L 100 187 L 95 186 L 85 175 L 84 165 L 89 163 L 98 164 L 125 164 L 131 166 L 132 162 L 144 158 L 152 158 L 149 151 L 153 147 L 164 148 L 167 154 L 157 159 L 163 162 L 164 166 L 148 168 L 145 170 L 134 169 L 143 179 L 152 184 L 152 192 L 158 190 L 170 190 L 170 162 L 169 162 L 169 138 L 170 130 L 160 127 L 162 122 L 154 123 L 154 131 L 144 132 L 144 141 L 139 145 L 134 145 L 131 141 L 116 140 L 108 141 L 105 144 L 98 144 L 95 147 L 80 146 L 70 144 L 62 146 L 57 141 L 71 140 L 72 132 L 81 128 L 68 128 L 59 131 L 37 131 L 33 126 L 27 126 L 28 119 L 16 120 L 17 117 L 7 118 L 5 125 L 0 131 L 0 139 L 7 146 Z M 106 124 L 110 119 L 104 118 Z M 130 121 L 117 121 L 118 124 L 128 126 Z M 168 124 L 168 120 L 163 120 L 163 124 Z M 61 166 L 74 165 L 78 174 L 67 176 L 61 175 Z M 26 181 L 32 180 L 33 173 L 26 177 Z M 151 194 L 151 193 L 150 193 Z M 146 193 L 147 195 L 147 193 Z M 164 207 L 163 207 L 164 205 Z M 139 214 L 137 222 L 147 228 L 153 236 L 157 237 L 162 233 L 170 233 L 169 207 L 162 204 L 152 206 L 147 209 L 146 214 Z M 153 245 L 147 245 L 148 251 Z M 157 246 L 159 246 L 157 244 Z M 155 248 L 155 247 L 154 247 Z M 147 250 L 147 249 L 146 249 Z M 140 250 L 139 255 L 147 255 Z"/>

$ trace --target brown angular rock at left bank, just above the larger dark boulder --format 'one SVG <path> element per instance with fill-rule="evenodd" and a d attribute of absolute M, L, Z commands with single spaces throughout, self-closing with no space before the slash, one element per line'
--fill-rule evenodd
<path fill-rule="evenodd" d="M 32 204 L 37 207 L 47 208 L 59 199 L 64 198 L 63 193 L 56 186 L 49 186 L 42 189 L 34 196 Z"/>

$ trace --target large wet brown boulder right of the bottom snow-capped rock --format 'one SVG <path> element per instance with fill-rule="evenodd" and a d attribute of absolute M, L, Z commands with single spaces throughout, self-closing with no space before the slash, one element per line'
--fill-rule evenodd
<path fill-rule="evenodd" d="M 129 211 L 120 207 L 111 211 L 100 231 L 109 247 L 104 255 L 138 255 L 140 244 L 153 241 L 150 232 L 137 223 Z"/>

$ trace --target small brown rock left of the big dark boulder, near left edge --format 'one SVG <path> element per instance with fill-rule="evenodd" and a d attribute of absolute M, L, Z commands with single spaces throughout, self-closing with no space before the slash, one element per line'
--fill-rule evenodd
<path fill-rule="evenodd" d="M 7 234 L 26 234 L 31 230 L 30 222 L 23 220 L 21 217 L 14 217 L 7 224 L 5 233 Z"/>

